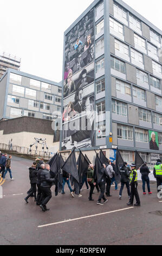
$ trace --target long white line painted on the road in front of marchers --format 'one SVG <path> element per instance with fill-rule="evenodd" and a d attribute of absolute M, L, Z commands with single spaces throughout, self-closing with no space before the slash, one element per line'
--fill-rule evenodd
<path fill-rule="evenodd" d="M 111 213 L 113 213 L 113 212 L 124 211 L 124 210 L 128 210 L 128 209 L 133 209 L 133 208 L 134 208 L 134 207 L 129 207 L 129 208 L 124 208 L 124 209 L 115 210 L 115 211 L 102 212 L 101 214 L 94 214 L 94 215 L 84 216 L 84 217 L 80 217 L 80 218 L 73 218 L 72 220 L 59 221 L 59 222 L 55 222 L 55 223 L 40 225 L 40 226 L 38 226 L 38 228 L 48 227 L 48 226 L 50 226 L 50 225 L 56 225 L 56 224 L 61 224 L 61 223 L 70 222 L 70 221 L 78 221 L 78 220 L 82 220 L 82 219 L 84 219 L 84 218 L 91 218 L 91 217 L 96 217 L 96 216 L 100 216 L 100 215 L 111 214 Z"/>

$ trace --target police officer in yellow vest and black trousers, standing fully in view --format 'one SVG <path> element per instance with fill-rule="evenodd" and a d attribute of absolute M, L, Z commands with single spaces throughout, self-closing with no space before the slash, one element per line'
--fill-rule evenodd
<path fill-rule="evenodd" d="M 135 169 L 135 164 L 132 163 L 131 164 L 131 174 L 130 174 L 130 186 L 131 186 L 131 198 L 129 200 L 129 203 L 127 203 L 127 205 L 133 205 L 133 200 L 134 200 L 134 196 L 135 196 L 135 199 L 136 199 L 136 203 L 134 204 L 134 206 L 140 206 L 140 198 L 139 198 L 139 194 L 138 194 L 138 190 L 137 190 L 137 187 L 138 187 L 138 173 L 137 173 L 137 170 Z"/>

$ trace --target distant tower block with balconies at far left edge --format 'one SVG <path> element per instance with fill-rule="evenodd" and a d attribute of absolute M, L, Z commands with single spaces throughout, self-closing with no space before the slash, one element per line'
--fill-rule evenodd
<path fill-rule="evenodd" d="M 0 52 L 0 78 L 8 68 L 20 70 L 21 58 Z"/>

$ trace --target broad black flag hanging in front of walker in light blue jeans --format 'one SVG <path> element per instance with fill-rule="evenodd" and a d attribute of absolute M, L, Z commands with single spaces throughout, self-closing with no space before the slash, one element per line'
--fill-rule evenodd
<path fill-rule="evenodd" d="M 72 176 L 72 180 L 74 180 L 75 194 L 79 195 L 79 175 L 76 166 L 75 149 L 73 149 L 72 153 L 69 155 L 68 159 L 63 164 L 62 169 Z"/>

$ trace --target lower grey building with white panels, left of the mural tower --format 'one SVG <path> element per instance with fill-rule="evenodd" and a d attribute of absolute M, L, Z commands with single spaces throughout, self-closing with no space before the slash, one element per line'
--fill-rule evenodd
<path fill-rule="evenodd" d="M 0 118 L 22 116 L 52 120 L 61 111 L 62 85 L 14 69 L 0 80 Z"/>

